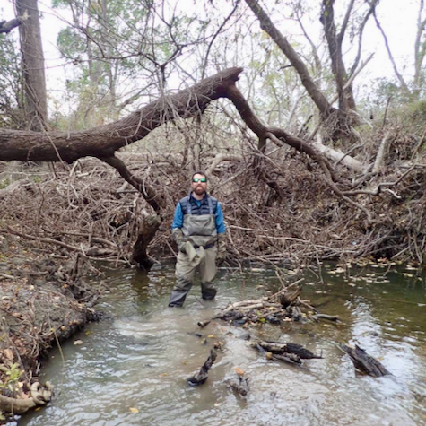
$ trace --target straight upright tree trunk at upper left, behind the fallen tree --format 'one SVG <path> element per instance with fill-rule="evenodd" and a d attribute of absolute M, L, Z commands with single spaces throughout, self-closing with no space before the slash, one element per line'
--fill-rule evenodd
<path fill-rule="evenodd" d="M 48 128 L 48 101 L 46 76 L 37 0 L 14 0 L 18 16 L 28 14 L 20 25 L 22 71 L 25 79 L 25 96 L 30 130 Z"/>

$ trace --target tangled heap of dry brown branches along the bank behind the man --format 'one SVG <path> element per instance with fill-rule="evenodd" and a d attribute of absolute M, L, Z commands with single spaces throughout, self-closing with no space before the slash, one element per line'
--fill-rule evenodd
<path fill-rule="evenodd" d="M 379 136 L 373 140 L 379 141 Z M 198 160 L 209 170 L 209 188 L 223 206 L 228 261 L 290 259 L 305 265 L 318 259 L 372 256 L 422 263 L 426 169 L 422 157 L 406 161 L 418 154 L 418 142 L 410 144 L 399 133 L 391 141 L 380 173 L 349 180 L 352 174 L 336 166 L 340 187 L 356 192 L 354 199 L 369 211 L 371 221 L 357 205 L 335 196 L 321 168 L 305 154 L 274 148 L 259 164 L 256 151 L 206 152 Z M 372 162 L 378 149 L 379 142 L 364 146 L 363 160 Z M 170 223 L 176 202 L 187 195 L 188 168 L 194 170 L 195 159 L 173 153 L 122 155 L 129 170 L 161 200 L 162 222 L 147 241 L 148 254 L 153 260 L 172 258 L 176 248 Z M 0 190 L 3 229 L 19 232 L 47 253 L 80 252 L 89 259 L 128 265 L 152 207 L 101 161 L 87 158 L 73 167 L 50 167 L 24 170 L 23 179 Z"/>

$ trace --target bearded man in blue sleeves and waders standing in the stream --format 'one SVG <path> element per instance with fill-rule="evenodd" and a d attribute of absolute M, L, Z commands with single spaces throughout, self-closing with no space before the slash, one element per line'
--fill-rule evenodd
<path fill-rule="evenodd" d="M 171 224 L 171 234 L 178 245 L 178 261 L 170 307 L 184 304 L 197 267 L 202 298 L 214 299 L 213 279 L 226 254 L 225 230 L 221 204 L 207 194 L 207 177 L 197 171 L 192 176 L 191 192 L 178 202 Z"/>

